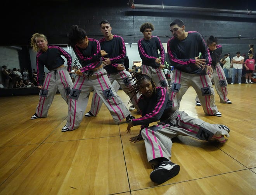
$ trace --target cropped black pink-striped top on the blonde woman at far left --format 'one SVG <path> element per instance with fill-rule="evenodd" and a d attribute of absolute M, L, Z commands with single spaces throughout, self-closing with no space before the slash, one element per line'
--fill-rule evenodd
<path fill-rule="evenodd" d="M 61 57 L 64 56 L 67 59 L 67 70 L 71 71 L 72 57 L 67 51 L 63 50 L 59 46 L 48 45 L 46 51 L 38 51 L 36 54 L 36 67 L 37 67 L 37 82 L 38 86 L 43 85 L 43 72 L 44 65 L 48 70 L 54 70 L 64 64 L 65 60 Z"/>

